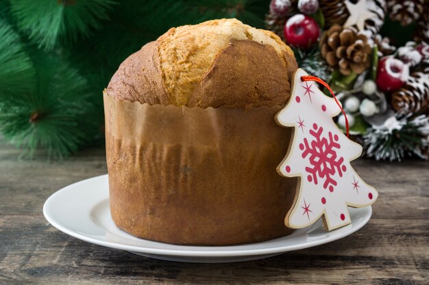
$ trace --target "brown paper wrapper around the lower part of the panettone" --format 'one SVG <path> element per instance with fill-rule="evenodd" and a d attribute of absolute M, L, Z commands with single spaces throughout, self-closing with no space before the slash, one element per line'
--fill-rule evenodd
<path fill-rule="evenodd" d="M 290 234 L 296 179 L 275 168 L 291 129 L 280 107 L 150 106 L 104 95 L 110 209 L 154 241 L 232 245 Z"/>

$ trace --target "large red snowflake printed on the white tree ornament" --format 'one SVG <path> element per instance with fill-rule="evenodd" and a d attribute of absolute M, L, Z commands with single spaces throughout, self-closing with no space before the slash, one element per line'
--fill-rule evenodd
<path fill-rule="evenodd" d="M 340 145 L 337 143 L 338 135 L 328 133 L 328 138 L 323 137 L 323 127 L 313 124 L 314 130 L 310 130 L 310 135 L 314 139 L 309 144 L 308 139 L 304 138 L 304 144 L 299 144 L 299 148 L 303 150 L 302 158 L 305 159 L 309 154 L 309 161 L 311 167 L 306 167 L 308 181 L 313 181 L 317 185 L 318 178 L 325 180 L 323 188 L 326 189 L 329 185 L 330 191 L 334 191 L 336 181 L 332 176 L 338 172 L 339 176 L 343 176 L 346 167 L 343 165 L 343 157 L 339 157 L 335 149 L 339 149 Z"/>

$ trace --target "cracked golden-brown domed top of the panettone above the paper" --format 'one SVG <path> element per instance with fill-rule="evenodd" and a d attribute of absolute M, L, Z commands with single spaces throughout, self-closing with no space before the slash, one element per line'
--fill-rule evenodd
<path fill-rule="evenodd" d="M 236 19 L 170 29 L 128 57 L 107 94 L 149 105 L 283 105 L 297 64 L 274 33 Z"/>

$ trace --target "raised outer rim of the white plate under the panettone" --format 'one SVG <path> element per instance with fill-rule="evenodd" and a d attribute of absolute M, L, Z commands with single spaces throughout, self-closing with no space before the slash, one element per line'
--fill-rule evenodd
<path fill-rule="evenodd" d="M 262 249 L 231 249 L 226 250 L 228 247 L 238 247 L 240 245 L 252 245 L 252 243 L 246 243 L 246 244 L 240 244 L 240 245 L 223 245 L 223 246 L 208 246 L 208 245 L 175 245 L 171 243 L 162 243 L 159 241 L 151 241 L 147 239 L 142 239 L 145 241 L 165 244 L 165 245 L 175 245 L 177 247 L 195 247 L 195 250 L 191 249 L 162 249 L 162 248 L 154 248 L 154 247 L 142 247 L 138 245 L 125 245 L 123 243 L 117 243 L 114 241 L 103 241 L 100 239 L 96 239 L 94 237 L 88 236 L 86 234 L 79 234 L 79 232 L 75 230 L 71 230 L 70 228 L 67 228 L 65 225 L 63 225 L 60 221 L 57 221 L 55 217 L 51 217 L 51 215 L 48 213 L 48 207 L 53 203 L 53 201 L 56 199 L 58 195 L 64 195 L 65 192 L 70 191 L 74 187 L 78 187 L 80 184 L 84 184 L 89 182 L 90 180 L 101 180 L 101 179 L 108 179 L 108 174 L 102 174 L 99 176 L 95 176 L 92 178 L 86 178 L 84 180 L 79 180 L 78 182 L 74 182 L 70 185 L 67 185 L 66 187 L 62 187 L 58 191 L 52 193 L 49 198 L 45 201 L 43 204 L 43 215 L 45 216 L 45 219 L 53 226 L 54 228 L 60 230 L 61 232 L 64 232 L 64 234 L 68 234 L 69 236 L 73 236 L 76 239 L 80 239 L 82 241 L 86 241 L 88 243 L 93 243 L 95 245 L 101 245 L 104 247 L 110 247 L 114 249 L 121 249 L 126 250 L 128 252 L 141 252 L 146 254 L 159 254 L 164 256 L 186 256 L 186 257 L 230 257 L 230 256 L 260 256 L 265 254 L 276 254 L 276 253 L 284 253 L 284 252 L 290 252 L 295 251 L 299 249 L 306 249 L 309 247 L 315 247 L 317 245 L 323 245 L 325 243 L 330 243 L 332 241 L 337 241 L 339 239 L 343 239 L 345 236 L 349 236 L 350 234 L 353 234 L 354 232 L 360 230 L 360 228 L 363 228 L 365 226 L 369 219 L 371 219 L 372 215 L 372 207 L 367 206 L 363 208 L 356 208 L 358 211 L 367 211 L 368 213 L 365 213 L 365 217 L 363 218 L 363 221 L 356 225 L 352 225 L 352 227 L 341 233 L 341 234 L 334 234 L 327 236 L 324 239 L 318 239 L 316 241 L 307 241 L 306 243 L 301 243 L 298 245 L 284 245 L 284 246 L 277 246 L 277 247 L 268 247 L 268 248 L 262 248 Z M 94 190 L 97 191 L 97 190 Z M 101 191 L 101 190 L 99 190 Z M 101 199 L 98 201 L 101 202 Z M 350 225 L 347 225 L 350 226 Z M 343 228 L 339 228 L 336 230 L 332 230 L 332 232 L 336 232 L 338 230 L 342 230 Z M 106 230 L 102 229 L 106 232 Z M 302 229 L 297 229 L 302 230 Z M 271 241 L 271 240 L 269 240 Z M 262 241 L 260 243 L 266 243 L 269 241 Z M 258 244 L 258 243 L 254 243 Z M 198 247 L 212 247 L 212 250 L 199 250 Z M 222 248 L 219 250 L 219 248 Z"/>

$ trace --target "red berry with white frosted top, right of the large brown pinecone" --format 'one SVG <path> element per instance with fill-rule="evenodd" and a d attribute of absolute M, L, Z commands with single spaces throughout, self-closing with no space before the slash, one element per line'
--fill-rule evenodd
<path fill-rule="evenodd" d="M 393 57 L 382 57 L 378 61 L 377 87 L 384 92 L 398 90 L 405 84 L 408 74 L 409 68 L 404 62 Z"/>

